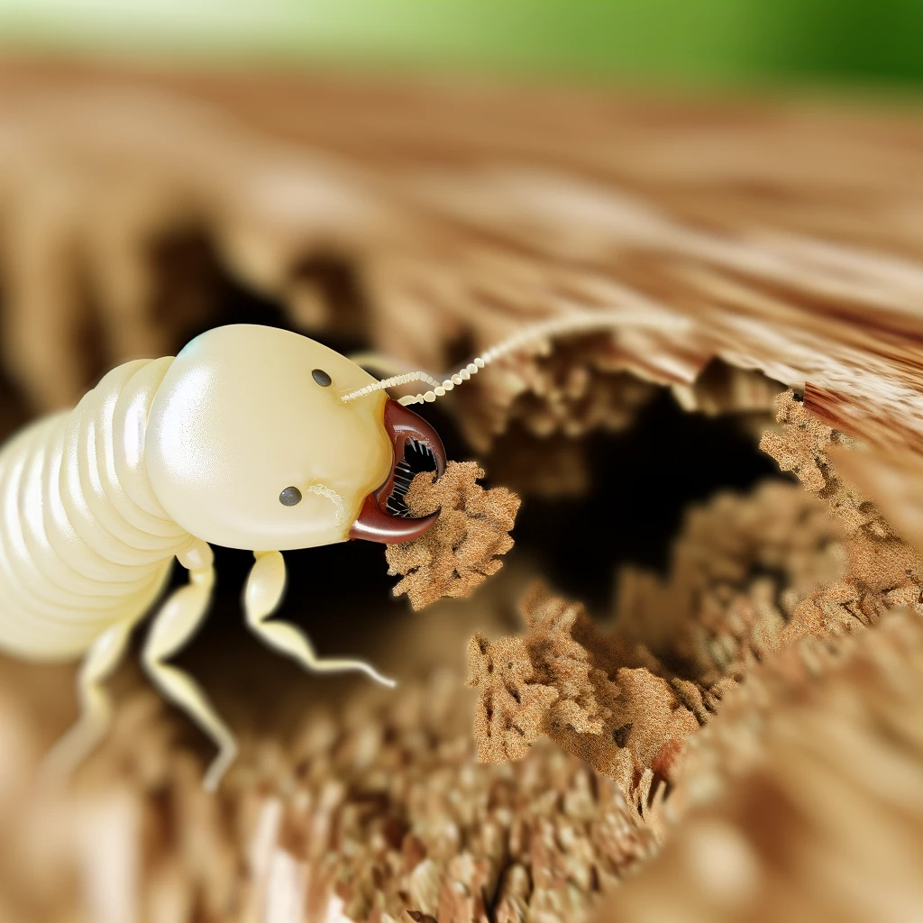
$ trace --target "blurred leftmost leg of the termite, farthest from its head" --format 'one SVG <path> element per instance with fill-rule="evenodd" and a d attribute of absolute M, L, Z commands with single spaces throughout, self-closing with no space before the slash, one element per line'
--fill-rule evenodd
<path fill-rule="evenodd" d="M 121 663 L 134 627 L 128 620 L 106 629 L 84 658 L 77 678 L 80 717 L 45 757 L 42 775 L 49 782 L 63 782 L 105 737 L 113 707 L 102 684 Z"/>

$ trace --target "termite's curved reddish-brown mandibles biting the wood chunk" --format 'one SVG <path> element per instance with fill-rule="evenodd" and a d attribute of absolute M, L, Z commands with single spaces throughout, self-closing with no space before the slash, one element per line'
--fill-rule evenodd
<path fill-rule="evenodd" d="M 437 476 L 446 470 L 446 450 L 436 430 L 422 416 L 417 416 L 397 401 L 389 400 L 385 403 L 384 424 L 394 446 L 391 471 L 385 483 L 366 497 L 349 537 L 393 545 L 418 538 L 437 521 L 439 515 L 435 512 L 421 519 L 407 519 L 390 512 L 388 501 L 395 489 L 395 478 L 399 476 L 397 467 L 403 461 L 404 450 L 414 446 L 423 447 L 432 453 Z"/>

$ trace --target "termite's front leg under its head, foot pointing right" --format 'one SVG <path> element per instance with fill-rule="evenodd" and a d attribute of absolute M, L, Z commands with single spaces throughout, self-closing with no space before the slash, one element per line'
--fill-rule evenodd
<path fill-rule="evenodd" d="M 250 570 L 244 590 L 246 624 L 262 641 L 282 653 L 288 654 L 315 673 L 342 673 L 359 670 L 383 686 L 394 686 L 394 680 L 383 677 L 372 665 L 361 660 L 344 660 L 318 657 L 306 634 L 287 622 L 270 622 L 267 619 L 282 601 L 285 590 L 285 561 L 278 551 L 255 551 L 257 563 Z"/>

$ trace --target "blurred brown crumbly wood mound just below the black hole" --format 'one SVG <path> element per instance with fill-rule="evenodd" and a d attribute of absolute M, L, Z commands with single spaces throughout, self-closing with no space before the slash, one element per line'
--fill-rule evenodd
<path fill-rule="evenodd" d="M 707 686 L 777 650 L 797 606 L 845 561 L 842 525 L 799 486 L 721 493 L 689 509 L 666 578 L 620 571 L 617 628 Z"/>

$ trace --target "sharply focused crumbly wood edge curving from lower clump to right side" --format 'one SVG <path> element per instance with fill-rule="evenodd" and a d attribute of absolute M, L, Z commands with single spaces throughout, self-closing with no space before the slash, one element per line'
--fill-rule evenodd
<path fill-rule="evenodd" d="M 797 473 L 838 521 L 845 549 L 840 578 L 817 586 L 778 624 L 758 615 L 749 626 L 747 644 L 755 654 L 749 659 L 715 661 L 711 669 L 699 663 L 698 675 L 689 676 L 677 676 L 643 644 L 632 643 L 618 621 L 606 633 L 580 604 L 536 586 L 521 604 L 523 635 L 497 641 L 475 635 L 470 643 L 469 685 L 479 692 L 474 730 L 482 760 L 519 759 L 538 737 L 551 737 L 615 779 L 636 819 L 651 822 L 652 783 L 681 780 L 689 740 L 753 669 L 772 664 L 799 641 L 826 641 L 874 626 L 895 607 L 923 615 L 917 550 L 833 466 L 831 455 L 844 457 L 854 450 L 853 440 L 811 414 L 792 390 L 774 405 L 780 429 L 765 434 L 761 449 L 784 471 Z M 682 663 L 677 647 L 667 654 Z M 666 789 L 662 794 L 668 801 Z"/>

